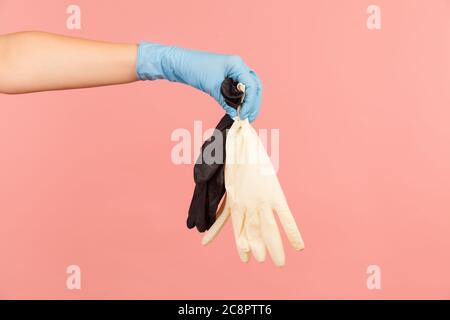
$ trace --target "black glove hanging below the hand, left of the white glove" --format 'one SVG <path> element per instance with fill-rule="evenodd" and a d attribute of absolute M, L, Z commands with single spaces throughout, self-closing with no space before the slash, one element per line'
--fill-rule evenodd
<path fill-rule="evenodd" d="M 220 163 L 205 163 L 201 161 L 205 148 L 214 142 L 212 136 L 202 145 L 201 154 L 194 166 L 195 190 L 192 197 L 189 215 L 187 219 L 187 227 L 204 232 L 208 230 L 216 221 L 216 210 L 220 200 L 225 194 L 224 181 L 224 162 L 225 162 L 225 143 L 228 129 L 233 124 L 233 119 L 225 115 L 216 126 L 216 130 L 222 134 L 222 161 Z"/>

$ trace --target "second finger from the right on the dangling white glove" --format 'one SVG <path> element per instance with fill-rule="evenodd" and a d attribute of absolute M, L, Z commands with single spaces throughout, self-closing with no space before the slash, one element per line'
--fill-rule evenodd
<path fill-rule="evenodd" d="M 272 209 L 268 206 L 261 207 L 260 217 L 261 233 L 267 250 L 275 265 L 281 267 L 285 262 L 284 249 Z"/>

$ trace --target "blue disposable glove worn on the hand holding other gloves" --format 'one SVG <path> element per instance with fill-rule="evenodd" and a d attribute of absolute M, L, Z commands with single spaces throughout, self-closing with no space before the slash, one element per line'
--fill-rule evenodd
<path fill-rule="evenodd" d="M 138 47 L 136 73 L 140 80 L 166 79 L 181 82 L 211 95 L 234 118 L 237 112 L 220 93 L 225 78 L 245 85 L 241 119 L 255 120 L 261 103 L 262 85 L 253 70 L 239 56 L 187 50 L 142 42 Z"/>

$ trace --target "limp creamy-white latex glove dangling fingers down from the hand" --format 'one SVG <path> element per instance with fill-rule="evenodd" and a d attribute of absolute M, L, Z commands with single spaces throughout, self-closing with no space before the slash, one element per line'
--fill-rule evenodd
<path fill-rule="evenodd" d="M 203 237 L 203 244 L 211 242 L 231 216 L 242 261 L 248 261 L 250 252 L 257 261 L 264 261 L 267 248 L 274 263 L 282 266 L 285 256 L 275 211 L 292 246 L 304 248 L 270 158 L 248 120 L 236 118 L 228 132 L 225 188 L 219 217 Z"/>

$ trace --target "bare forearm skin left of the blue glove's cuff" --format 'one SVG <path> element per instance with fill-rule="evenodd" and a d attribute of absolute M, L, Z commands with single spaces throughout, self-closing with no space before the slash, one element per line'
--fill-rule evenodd
<path fill-rule="evenodd" d="M 45 32 L 0 35 L 0 92 L 16 94 L 137 81 L 136 44 Z"/>

